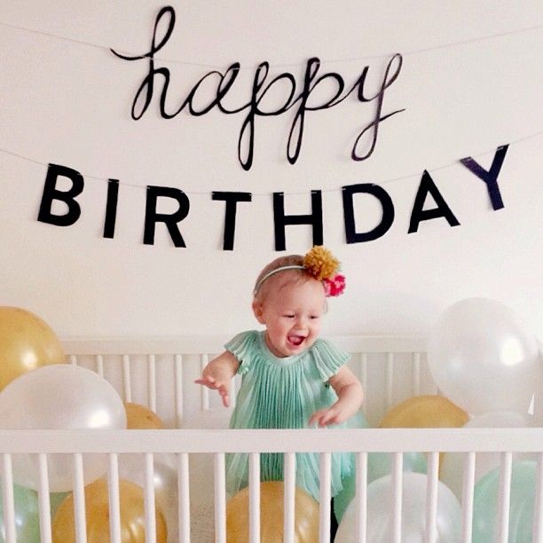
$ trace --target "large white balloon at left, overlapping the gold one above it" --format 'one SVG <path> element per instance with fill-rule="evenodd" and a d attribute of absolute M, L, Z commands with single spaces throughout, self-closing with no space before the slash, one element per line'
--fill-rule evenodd
<path fill-rule="evenodd" d="M 126 429 L 126 411 L 114 387 L 95 372 L 67 364 L 22 374 L 0 392 L 1 429 Z M 49 454 L 51 492 L 73 490 L 73 457 Z M 12 456 L 15 483 L 37 490 L 38 458 Z M 83 455 L 83 480 L 89 484 L 107 469 L 105 454 Z"/>

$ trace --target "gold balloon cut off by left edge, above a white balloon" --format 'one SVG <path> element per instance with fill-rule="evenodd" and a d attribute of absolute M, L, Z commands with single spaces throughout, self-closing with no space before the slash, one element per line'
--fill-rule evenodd
<path fill-rule="evenodd" d="M 34 313 L 0 307 L 0 390 L 22 374 L 65 362 L 59 338 Z"/>

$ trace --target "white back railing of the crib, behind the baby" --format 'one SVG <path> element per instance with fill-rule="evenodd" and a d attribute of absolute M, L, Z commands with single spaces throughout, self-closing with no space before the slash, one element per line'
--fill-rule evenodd
<path fill-rule="evenodd" d="M 202 411 L 220 407 L 212 391 L 194 385 L 209 358 L 228 338 L 65 340 L 67 361 L 106 377 L 122 399 L 146 405 L 169 428 L 182 428 Z M 338 336 L 329 339 L 351 353 L 349 366 L 365 389 L 364 409 L 375 425 L 407 397 L 437 394 L 426 364 L 425 342 L 397 336 Z M 240 380 L 234 380 L 234 394 Z"/>

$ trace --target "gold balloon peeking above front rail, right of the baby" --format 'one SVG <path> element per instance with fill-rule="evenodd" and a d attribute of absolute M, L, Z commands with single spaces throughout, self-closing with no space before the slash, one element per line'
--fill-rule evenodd
<path fill-rule="evenodd" d="M 443 396 L 415 396 L 396 405 L 379 428 L 460 428 L 469 415 Z"/>

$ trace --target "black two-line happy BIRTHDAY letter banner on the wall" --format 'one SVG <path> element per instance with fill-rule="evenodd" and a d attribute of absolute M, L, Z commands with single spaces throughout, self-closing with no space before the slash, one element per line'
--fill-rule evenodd
<path fill-rule="evenodd" d="M 402 55 L 399 53 L 391 55 L 380 86 L 377 91 L 374 91 L 373 93 L 366 88 L 369 66 L 362 69 L 354 83 L 346 84 L 342 75 L 336 72 L 319 74 L 320 60 L 316 57 L 311 58 L 306 63 L 303 82 L 298 84 L 296 83 L 295 76 L 289 72 L 283 72 L 273 77 L 271 81 L 267 81 L 270 65 L 268 62 L 264 61 L 256 67 L 248 101 L 246 103 L 241 103 L 238 107 L 228 108 L 224 105 L 223 100 L 227 94 L 232 93 L 232 85 L 240 74 L 241 69 L 240 63 L 234 62 L 227 67 L 224 72 L 214 69 L 203 75 L 193 85 L 193 88 L 185 99 L 179 103 L 177 107 L 170 110 L 166 106 L 170 84 L 169 68 L 157 66 L 155 54 L 161 51 L 166 43 L 168 43 L 175 27 L 175 21 L 175 10 L 171 6 L 165 6 L 161 8 L 154 21 L 151 45 L 148 48 L 148 51 L 143 54 L 125 54 L 114 51 L 113 49 L 110 50 L 118 59 L 130 62 L 138 60 L 146 61 L 146 75 L 143 77 L 138 90 L 135 93 L 131 106 L 131 117 L 135 121 L 141 119 L 143 115 L 146 114 L 154 97 L 158 97 L 159 111 L 163 119 L 171 119 L 183 111 L 194 116 L 201 116 L 209 113 L 209 111 L 214 108 L 222 114 L 227 115 L 242 113 L 244 117 L 241 122 L 238 138 L 238 160 L 240 161 L 241 167 L 246 171 L 251 169 L 253 161 L 255 160 L 255 123 L 256 118 L 259 116 L 281 115 L 291 109 L 295 110 L 287 140 L 287 161 L 291 165 L 294 165 L 302 150 L 304 121 L 308 112 L 318 112 L 338 106 L 345 98 L 348 98 L 351 95 L 355 96 L 362 104 L 373 103 L 374 117 L 371 122 L 362 127 L 358 132 L 350 153 L 352 160 L 364 161 L 374 153 L 381 123 L 392 115 L 405 111 L 405 109 L 397 109 L 392 112 L 383 113 L 385 91 L 387 91 L 390 85 L 397 80 L 402 67 Z M 160 24 L 161 28 L 164 28 L 164 25 L 166 26 L 166 30 L 161 37 L 157 35 Z M 217 82 L 215 96 L 209 101 L 209 104 L 198 108 L 194 104 L 194 98 L 201 88 L 201 85 L 211 78 L 214 78 Z M 325 81 L 334 83 L 334 96 L 327 98 L 326 101 L 319 105 L 310 106 L 308 102 L 311 93 Z M 287 95 L 280 106 L 273 110 L 264 110 L 261 106 L 261 102 L 266 96 L 266 93 L 277 83 L 282 84 L 283 87 L 284 84 L 287 83 L 289 89 Z M 361 138 L 366 134 L 370 134 L 371 143 L 366 151 L 361 152 L 358 147 Z M 498 185 L 498 177 L 506 153 L 508 152 L 508 146 L 509 144 L 497 148 L 490 169 L 484 169 L 484 167 L 471 156 L 460 159 L 460 164 L 466 167 L 476 179 L 484 183 L 492 205 L 492 210 L 504 208 L 500 187 Z M 59 177 L 68 179 L 71 182 L 71 186 L 66 190 L 60 190 L 57 186 Z M 106 215 L 102 235 L 104 238 L 113 239 L 120 183 L 117 179 L 107 179 L 107 184 Z M 63 185 L 66 186 L 66 183 Z M 82 173 L 66 165 L 50 163 L 47 168 L 43 196 L 37 220 L 57 226 L 71 226 L 75 224 L 81 216 L 81 206 L 76 199 L 83 193 L 83 189 L 84 179 Z M 394 221 L 394 204 L 389 193 L 387 193 L 382 185 L 376 185 L 374 183 L 344 185 L 342 186 L 341 191 L 346 243 L 363 243 L 377 240 L 389 231 L 390 226 Z M 313 244 L 323 244 L 322 192 L 323 191 L 321 190 L 311 191 L 311 213 L 307 215 L 287 215 L 285 213 L 285 193 L 271 193 L 275 250 L 286 250 L 286 228 L 289 225 L 295 224 L 310 225 L 312 229 Z M 251 202 L 254 193 L 213 191 L 209 194 L 213 201 L 224 202 L 223 250 L 230 251 L 234 248 L 238 204 Z M 355 198 L 361 197 L 373 198 L 379 203 L 382 209 L 382 217 L 379 224 L 369 231 L 360 230 L 357 224 L 354 202 Z M 427 205 L 429 198 L 431 198 L 435 204 L 435 206 L 430 209 Z M 175 201 L 177 210 L 169 214 L 159 213 L 157 211 L 158 202 L 163 199 Z M 66 204 L 67 211 L 63 214 L 53 213 L 52 209 L 55 201 L 61 201 Z M 185 248 L 186 244 L 179 224 L 182 223 L 189 213 L 189 193 L 185 193 L 176 187 L 147 185 L 143 243 L 146 245 L 153 245 L 156 225 L 164 224 L 174 246 L 177 248 Z M 453 210 L 448 206 L 443 195 L 439 192 L 429 170 L 424 169 L 414 198 L 408 233 L 417 232 L 422 222 L 436 218 L 445 219 L 450 226 L 457 226 L 460 224 L 456 216 L 454 216 Z"/>

